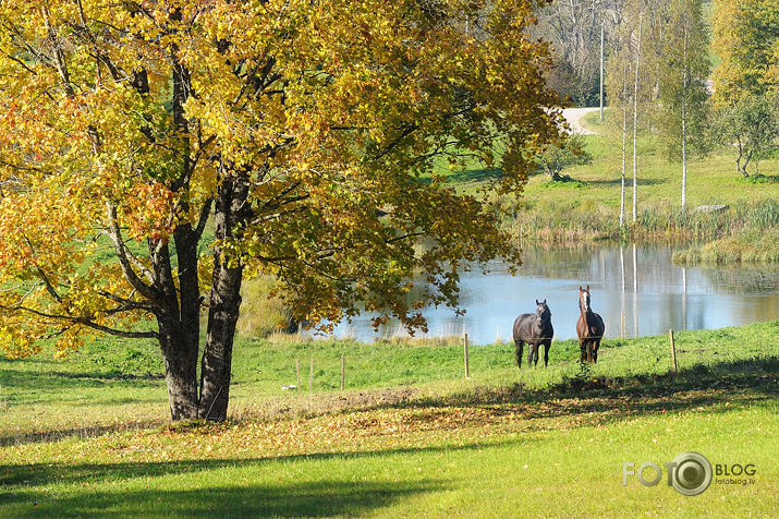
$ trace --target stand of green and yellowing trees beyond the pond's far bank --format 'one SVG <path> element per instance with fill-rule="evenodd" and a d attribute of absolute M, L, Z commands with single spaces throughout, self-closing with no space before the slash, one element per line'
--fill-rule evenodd
<path fill-rule="evenodd" d="M 576 106 L 600 101 L 605 44 L 607 126 L 622 146 L 623 185 L 632 161 L 633 220 L 641 132 L 650 131 L 667 158 L 681 165 L 683 207 L 689 156 L 732 145 L 735 170 L 748 177 L 776 149 L 776 0 L 556 0 L 537 16 L 533 36 L 553 49 L 547 81 Z M 713 57 L 719 60 L 714 70 Z M 624 220 L 624 190 L 622 197 Z"/>

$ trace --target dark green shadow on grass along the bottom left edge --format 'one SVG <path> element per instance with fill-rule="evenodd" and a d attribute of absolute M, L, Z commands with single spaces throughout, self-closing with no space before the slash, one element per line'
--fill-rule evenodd
<path fill-rule="evenodd" d="M 227 464 L 195 463 L 194 470 L 219 470 Z M 100 468 L 96 469 L 99 475 Z M 143 467 L 127 470 L 131 478 L 141 478 L 142 471 Z M 203 481 L 199 485 L 187 483 L 188 490 L 170 491 L 130 491 L 122 486 L 117 485 L 115 492 L 68 493 L 56 499 L 44 493 L 7 494 L 0 497 L 0 510 L 4 508 L 14 514 L 7 517 L 341 517 L 364 515 L 415 495 L 445 490 L 443 483 L 429 480 L 346 482 L 328 479 L 285 485 L 251 482 L 209 485 Z"/>

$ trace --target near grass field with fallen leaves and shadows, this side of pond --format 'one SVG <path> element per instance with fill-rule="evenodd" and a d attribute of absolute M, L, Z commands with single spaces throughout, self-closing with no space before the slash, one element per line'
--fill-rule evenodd
<path fill-rule="evenodd" d="M 4 360 L 0 517 L 776 517 L 778 337 L 678 333 L 678 374 L 667 337 L 608 341 L 585 369 L 556 341 L 532 371 L 496 343 L 467 381 L 458 343 L 246 340 L 221 424 L 167 424 L 153 345 Z M 295 359 L 303 390 L 282 391 Z M 756 472 L 694 497 L 665 469 L 623 486 L 623 462 L 690 450 Z"/>

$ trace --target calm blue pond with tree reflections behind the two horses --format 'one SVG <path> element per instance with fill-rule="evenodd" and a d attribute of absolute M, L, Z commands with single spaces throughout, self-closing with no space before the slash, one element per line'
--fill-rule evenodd
<path fill-rule="evenodd" d="M 674 251 L 668 245 L 527 250 L 516 276 L 501 263 L 490 264 L 487 275 L 463 275 L 460 301 L 465 314 L 426 309 L 427 336 L 467 334 L 476 345 L 508 341 L 516 316 L 535 312 L 535 300 L 546 299 L 555 338 L 575 338 L 580 285 L 589 285 L 593 310 L 604 318 L 608 338 L 779 318 L 779 266 L 684 268 L 672 264 Z M 397 323 L 374 333 L 370 315 L 361 315 L 340 324 L 334 335 L 369 342 L 406 334 Z"/>

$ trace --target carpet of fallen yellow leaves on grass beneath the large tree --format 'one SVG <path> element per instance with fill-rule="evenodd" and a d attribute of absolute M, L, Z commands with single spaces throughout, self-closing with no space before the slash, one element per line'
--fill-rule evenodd
<path fill-rule="evenodd" d="M 378 406 L 370 410 L 327 413 L 313 418 L 207 423 L 171 426 L 160 432 L 136 432 L 102 438 L 105 449 L 121 458 L 174 460 L 192 458 L 234 459 L 301 454 L 351 452 L 426 448 L 474 438 L 488 444 L 506 433 L 568 429 L 556 406 L 447 405 L 436 407 L 381 407 L 381 396 L 370 395 Z M 576 402 L 567 402 L 571 405 Z M 544 409 L 541 409 L 544 408 Z M 562 418 L 562 421 L 561 421 Z M 602 422 L 600 413 L 585 423 Z"/>

